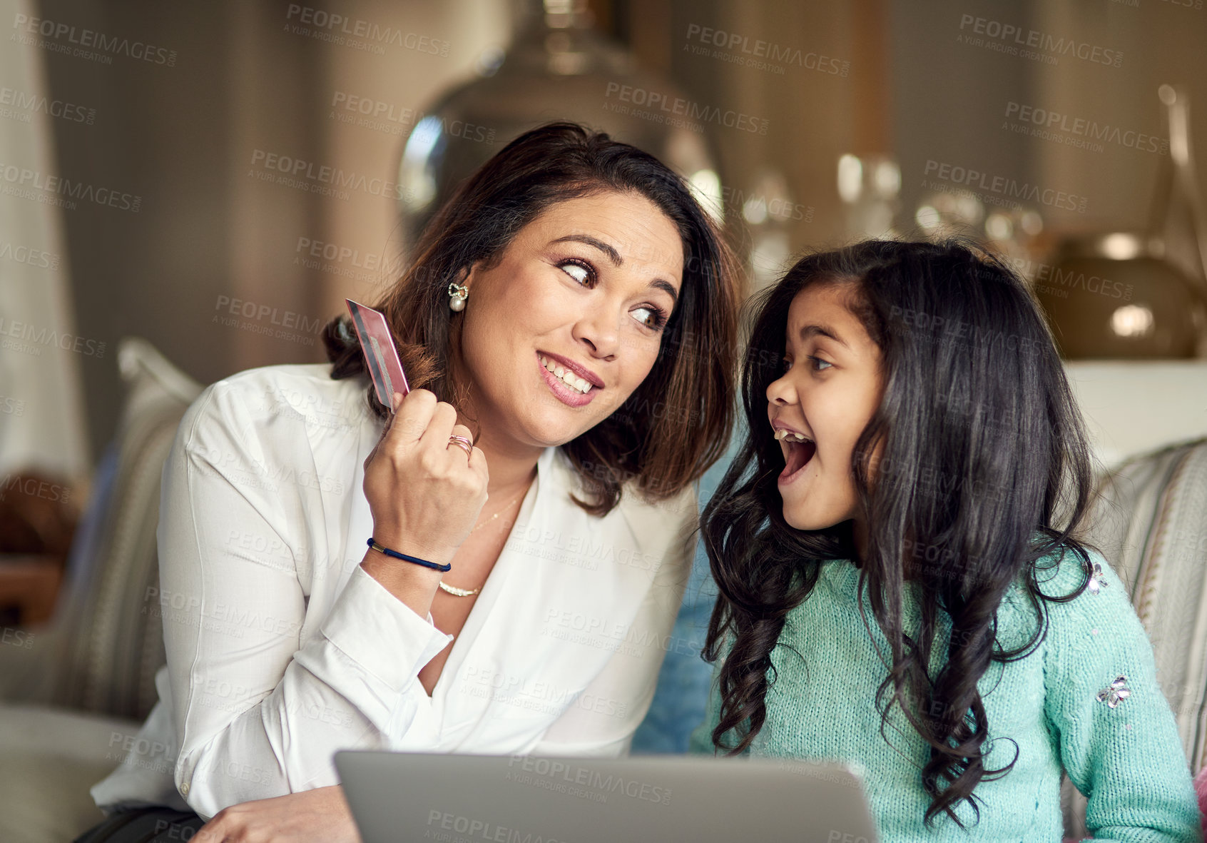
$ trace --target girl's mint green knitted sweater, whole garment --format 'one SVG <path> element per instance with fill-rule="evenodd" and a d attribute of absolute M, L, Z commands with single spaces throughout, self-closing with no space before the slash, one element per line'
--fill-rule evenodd
<path fill-rule="evenodd" d="M 1190 771 L 1173 715 L 1158 685 L 1153 650 L 1119 577 L 1097 552 L 1097 591 L 1069 603 L 1048 603 L 1050 626 L 1039 647 L 1022 659 L 995 662 L 979 682 L 989 733 L 986 768 L 1014 768 L 981 781 L 980 821 L 967 802 L 956 813 L 964 832 L 940 815 L 923 825 L 929 798 L 921 767 L 928 749 L 894 708 L 881 737 L 874 705 L 887 675 L 856 603 L 858 569 L 823 562 L 817 586 L 787 618 L 771 653 L 777 680 L 766 696 L 766 722 L 750 752 L 758 756 L 840 760 L 862 767 L 871 815 L 882 841 L 1044 841 L 1063 836 L 1061 769 L 1089 797 L 1086 821 L 1096 839 L 1197 841 L 1200 818 Z M 1080 582 L 1077 557 L 1040 572 L 1045 594 L 1068 594 Z M 904 623 L 917 628 L 916 586 L 906 585 Z M 944 616 L 945 617 L 945 616 Z M 887 644 L 868 609 L 875 640 Z M 998 611 L 998 639 L 1009 646 L 1034 629 L 1021 583 Z M 940 629 L 935 659 L 945 657 L 950 622 Z M 799 653 L 799 657 L 798 657 Z M 1130 696 L 1110 708 L 1100 691 L 1118 676 Z M 705 722 L 692 751 L 712 752 L 719 694 L 716 673 Z M 728 743 L 733 744 L 731 736 Z M 896 749 L 894 749 L 896 746 Z"/>

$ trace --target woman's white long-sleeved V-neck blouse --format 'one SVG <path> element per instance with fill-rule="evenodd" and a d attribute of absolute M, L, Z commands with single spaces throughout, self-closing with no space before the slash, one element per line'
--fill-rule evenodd
<path fill-rule="evenodd" d="M 605 517 L 556 448 L 453 641 L 360 568 L 366 382 L 267 366 L 209 386 L 164 464 L 159 702 L 98 806 L 226 806 L 338 783 L 339 749 L 618 756 L 654 694 L 690 571 L 695 489 Z M 400 563 L 403 564 L 403 563 Z M 183 797 L 183 800 L 181 798 Z"/>

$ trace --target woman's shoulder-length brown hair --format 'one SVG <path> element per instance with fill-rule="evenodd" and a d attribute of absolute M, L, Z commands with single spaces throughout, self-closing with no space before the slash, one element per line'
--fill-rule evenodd
<path fill-rule="evenodd" d="M 450 377 L 461 322 L 448 286 L 478 261 L 498 262 L 515 234 L 567 199 L 636 192 L 678 228 L 683 284 L 646 379 L 600 424 L 560 446 L 595 500 L 575 502 L 605 514 L 630 478 L 647 500 L 665 500 L 700 478 L 724 453 L 733 426 L 739 277 L 718 227 L 682 178 L 652 155 L 588 132 L 548 123 L 520 135 L 467 179 L 424 229 L 414 261 L 373 304 L 385 314 L 413 389 L 428 389 L 460 411 L 467 391 Z M 332 378 L 365 373 L 346 316 L 325 327 Z M 367 379 L 367 376 L 365 376 Z M 386 408 L 371 386 L 374 414 Z"/>

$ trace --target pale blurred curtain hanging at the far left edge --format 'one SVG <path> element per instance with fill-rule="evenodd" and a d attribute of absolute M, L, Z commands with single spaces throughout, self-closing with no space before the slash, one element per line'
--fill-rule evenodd
<path fill-rule="evenodd" d="M 35 17 L 30 0 L 0 0 L 0 21 Z M 13 25 L 0 47 L 0 495 L 21 470 L 88 473 L 80 357 L 113 355 L 75 332 L 63 226 L 71 211 L 53 190 L 63 104 L 47 95 L 41 39 L 22 33 Z"/>

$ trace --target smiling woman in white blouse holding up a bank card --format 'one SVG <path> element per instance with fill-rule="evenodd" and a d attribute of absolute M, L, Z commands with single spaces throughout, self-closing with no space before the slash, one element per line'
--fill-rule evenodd
<path fill-rule="evenodd" d="M 186 413 L 161 700 L 93 789 L 161 807 L 81 839 L 355 839 L 338 749 L 626 751 L 731 424 L 731 257 L 678 176 L 568 123 L 484 164 L 415 255 L 379 304 L 395 415 L 342 319 L 330 367 Z"/>

